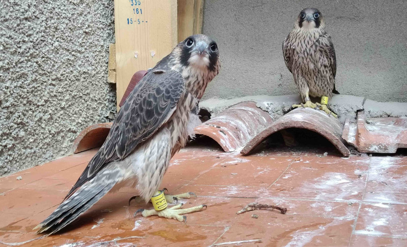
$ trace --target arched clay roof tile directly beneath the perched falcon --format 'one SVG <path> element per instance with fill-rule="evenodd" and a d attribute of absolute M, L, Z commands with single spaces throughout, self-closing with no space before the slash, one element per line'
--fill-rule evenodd
<path fill-rule="evenodd" d="M 328 116 L 323 111 L 311 108 L 297 108 L 280 117 L 268 128 L 258 133 L 243 148 L 243 155 L 249 154 L 257 145 L 265 140 L 269 135 L 287 128 L 309 129 L 327 138 L 343 156 L 349 156 L 350 152 L 345 147 L 341 138 L 343 126 L 338 119 Z"/>

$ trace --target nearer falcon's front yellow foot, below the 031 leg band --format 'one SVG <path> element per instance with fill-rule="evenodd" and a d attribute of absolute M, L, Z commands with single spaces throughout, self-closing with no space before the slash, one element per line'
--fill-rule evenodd
<path fill-rule="evenodd" d="M 146 210 L 146 209 L 138 209 L 136 211 L 136 213 L 134 213 L 134 217 L 137 215 L 137 213 L 141 213 L 141 215 L 143 217 L 149 217 L 149 216 L 153 216 L 156 215 L 158 217 L 164 217 L 167 219 L 174 219 L 174 220 L 178 220 L 179 222 L 185 222 L 185 224 L 187 223 L 187 217 L 183 216 L 185 214 L 188 213 L 192 213 L 192 212 L 196 212 L 196 211 L 200 211 L 203 207 L 207 208 L 207 205 L 199 205 L 199 206 L 194 206 L 194 207 L 189 207 L 189 208 L 181 208 L 182 205 L 184 205 L 184 203 L 181 204 L 177 204 L 173 207 L 170 208 L 165 208 L 161 211 L 156 211 L 155 209 L 150 209 L 150 210 Z"/>

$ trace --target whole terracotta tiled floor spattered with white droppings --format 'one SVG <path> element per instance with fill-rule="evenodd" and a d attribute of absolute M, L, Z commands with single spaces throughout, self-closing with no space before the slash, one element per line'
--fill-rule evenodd
<path fill-rule="evenodd" d="M 263 151 L 242 157 L 190 146 L 171 161 L 162 187 L 195 192 L 187 224 L 132 217 L 147 207 L 126 188 L 102 198 L 65 231 L 32 230 L 76 182 L 95 150 L 0 178 L 0 246 L 407 246 L 407 157 L 335 151 Z M 21 180 L 16 180 L 18 176 Z M 288 209 L 236 212 L 250 202 Z M 252 218 L 258 215 L 258 219 Z M 32 241 L 30 241 L 32 240 Z"/>

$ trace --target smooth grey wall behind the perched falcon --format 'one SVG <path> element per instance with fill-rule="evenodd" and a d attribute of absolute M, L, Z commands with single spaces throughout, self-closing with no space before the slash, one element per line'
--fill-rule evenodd
<path fill-rule="evenodd" d="M 206 0 L 202 32 L 217 41 L 222 69 L 204 99 L 298 93 L 281 45 L 306 7 L 325 17 L 341 94 L 407 101 L 407 1 L 401 0 Z"/>

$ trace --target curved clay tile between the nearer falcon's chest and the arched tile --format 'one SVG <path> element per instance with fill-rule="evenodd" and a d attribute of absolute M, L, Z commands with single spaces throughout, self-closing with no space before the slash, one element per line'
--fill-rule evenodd
<path fill-rule="evenodd" d="M 270 115 L 257 108 L 255 102 L 245 101 L 195 127 L 194 131 L 214 139 L 225 152 L 233 152 L 272 122 Z"/>

